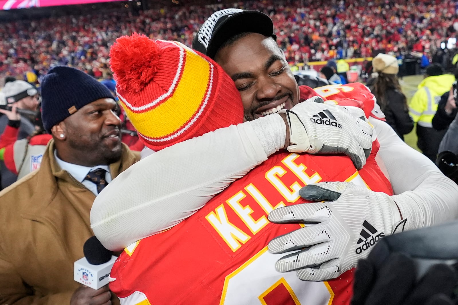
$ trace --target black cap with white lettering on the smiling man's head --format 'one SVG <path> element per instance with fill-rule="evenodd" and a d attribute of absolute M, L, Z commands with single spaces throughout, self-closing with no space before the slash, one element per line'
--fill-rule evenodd
<path fill-rule="evenodd" d="M 192 41 L 192 48 L 211 59 L 230 37 L 243 32 L 259 33 L 264 36 L 277 36 L 273 33 L 273 22 L 260 11 L 224 9 L 216 11 L 202 24 Z"/>

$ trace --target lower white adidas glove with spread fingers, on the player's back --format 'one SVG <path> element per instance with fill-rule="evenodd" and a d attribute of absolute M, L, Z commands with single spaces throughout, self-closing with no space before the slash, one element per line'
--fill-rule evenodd
<path fill-rule="evenodd" d="M 313 201 L 273 210 L 274 223 L 304 223 L 304 228 L 278 236 L 269 251 L 283 253 L 275 268 L 297 270 L 298 278 L 323 281 L 336 278 L 356 266 L 383 236 L 403 230 L 398 206 L 385 193 L 377 193 L 351 182 L 320 182 L 303 187 L 299 194 Z M 307 225 L 309 224 L 309 225 Z M 305 248 L 305 249 L 304 249 Z"/>

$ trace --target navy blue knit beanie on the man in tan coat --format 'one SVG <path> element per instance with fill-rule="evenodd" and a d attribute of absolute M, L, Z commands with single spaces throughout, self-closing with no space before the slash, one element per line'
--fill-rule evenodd
<path fill-rule="evenodd" d="M 81 107 L 113 94 L 95 78 L 83 71 L 57 66 L 48 71 L 41 82 L 41 116 L 44 129 L 51 128 Z"/>

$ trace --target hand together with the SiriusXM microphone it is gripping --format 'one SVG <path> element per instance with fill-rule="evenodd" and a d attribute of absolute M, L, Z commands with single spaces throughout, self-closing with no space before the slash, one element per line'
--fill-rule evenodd
<path fill-rule="evenodd" d="M 83 253 L 75 262 L 73 279 L 84 286 L 75 290 L 70 305 L 110 305 L 108 282 L 116 257 L 95 236 L 84 243 Z"/>

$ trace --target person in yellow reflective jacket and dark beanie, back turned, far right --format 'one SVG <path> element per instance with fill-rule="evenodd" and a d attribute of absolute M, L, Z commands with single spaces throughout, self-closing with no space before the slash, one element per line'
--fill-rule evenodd
<path fill-rule="evenodd" d="M 431 64 L 426 68 L 425 79 L 418 85 L 409 104 L 409 115 L 417 123 L 418 148 L 425 156 L 436 161 L 437 150 L 445 130 L 437 131 L 432 127 L 432 118 L 442 94 L 452 88 L 455 76 L 444 74 L 442 66 Z"/>

